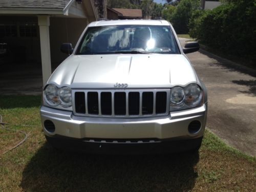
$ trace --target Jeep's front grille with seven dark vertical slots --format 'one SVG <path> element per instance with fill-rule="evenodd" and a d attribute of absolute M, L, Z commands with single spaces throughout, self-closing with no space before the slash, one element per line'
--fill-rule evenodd
<path fill-rule="evenodd" d="M 73 90 L 78 116 L 154 117 L 169 112 L 169 90 Z"/>

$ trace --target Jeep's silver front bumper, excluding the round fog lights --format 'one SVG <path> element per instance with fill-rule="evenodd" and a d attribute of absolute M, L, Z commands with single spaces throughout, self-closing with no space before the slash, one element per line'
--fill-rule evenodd
<path fill-rule="evenodd" d="M 185 140 L 200 138 L 204 134 L 207 105 L 199 108 L 172 112 L 164 117 L 145 118 L 97 118 L 80 117 L 72 112 L 41 106 L 41 123 L 48 137 L 64 136 L 73 139 L 168 139 Z M 44 122 L 55 125 L 53 132 L 47 131 Z M 188 125 L 199 121 L 197 132 L 189 132 Z"/>

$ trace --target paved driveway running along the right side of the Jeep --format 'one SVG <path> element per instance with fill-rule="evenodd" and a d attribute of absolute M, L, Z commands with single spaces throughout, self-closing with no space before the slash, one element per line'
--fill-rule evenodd
<path fill-rule="evenodd" d="M 204 50 L 187 57 L 208 90 L 208 129 L 256 156 L 256 71 Z"/>

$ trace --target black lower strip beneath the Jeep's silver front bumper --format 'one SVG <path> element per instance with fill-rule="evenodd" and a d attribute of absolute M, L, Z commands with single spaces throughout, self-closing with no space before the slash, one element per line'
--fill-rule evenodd
<path fill-rule="evenodd" d="M 93 154 L 152 154 L 197 150 L 202 137 L 185 140 L 161 140 L 157 142 L 122 143 L 122 142 L 90 142 L 84 139 L 72 139 L 62 136 L 46 136 L 54 147 L 68 151 Z"/>

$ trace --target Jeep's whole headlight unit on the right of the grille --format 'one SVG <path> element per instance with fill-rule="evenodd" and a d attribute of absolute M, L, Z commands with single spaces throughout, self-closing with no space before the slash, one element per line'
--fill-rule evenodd
<path fill-rule="evenodd" d="M 176 86 L 170 89 L 170 110 L 193 108 L 202 101 L 202 89 L 196 83 L 188 84 L 185 88 Z"/>

